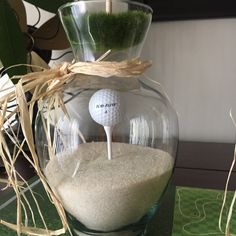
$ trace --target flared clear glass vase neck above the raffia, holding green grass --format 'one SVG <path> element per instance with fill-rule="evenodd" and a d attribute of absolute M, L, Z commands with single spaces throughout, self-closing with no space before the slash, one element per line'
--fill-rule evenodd
<path fill-rule="evenodd" d="M 121 61 L 139 57 L 152 11 L 143 4 L 114 1 L 112 14 L 105 0 L 79 1 L 59 9 L 60 19 L 76 61 Z"/>

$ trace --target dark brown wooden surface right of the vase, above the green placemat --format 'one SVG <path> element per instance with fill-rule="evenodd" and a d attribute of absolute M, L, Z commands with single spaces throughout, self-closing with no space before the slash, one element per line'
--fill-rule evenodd
<path fill-rule="evenodd" d="M 180 142 L 174 183 L 178 186 L 224 189 L 233 153 L 234 144 Z M 230 189 L 236 189 L 235 171 L 236 168 Z"/>

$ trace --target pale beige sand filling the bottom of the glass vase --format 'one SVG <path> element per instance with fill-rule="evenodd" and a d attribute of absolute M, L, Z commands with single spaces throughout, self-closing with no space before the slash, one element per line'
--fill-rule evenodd
<path fill-rule="evenodd" d="M 45 170 L 65 209 L 90 229 L 114 230 L 137 222 L 159 199 L 173 167 L 161 150 L 113 143 L 82 144 L 51 160 Z"/>

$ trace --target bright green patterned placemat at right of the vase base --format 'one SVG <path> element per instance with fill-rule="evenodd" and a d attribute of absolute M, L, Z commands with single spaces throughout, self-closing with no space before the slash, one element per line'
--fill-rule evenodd
<path fill-rule="evenodd" d="M 174 212 L 173 236 L 224 235 L 218 227 L 223 191 L 178 187 Z M 233 193 L 227 194 L 223 214 L 223 229 Z M 233 212 L 231 234 L 236 234 L 236 211 Z"/>

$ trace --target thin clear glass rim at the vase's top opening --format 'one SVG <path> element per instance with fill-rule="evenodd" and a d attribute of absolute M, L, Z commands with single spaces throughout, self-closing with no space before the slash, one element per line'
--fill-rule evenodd
<path fill-rule="evenodd" d="M 58 12 L 62 11 L 62 9 L 66 8 L 66 7 L 69 7 L 69 6 L 74 6 L 74 5 L 80 5 L 80 4 L 86 4 L 86 3 L 91 3 L 91 2 L 94 2 L 94 3 L 102 3 L 102 2 L 106 2 L 106 0 L 81 0 L 81 1 L 76 1 L 76 2 L 68 2 L 68 3 L 65 3 L 63 5 L 61 5 L 59 8 L 58 8 Z M 127 3 L 127 4 L 130 4 L 130 5 L 135 5 L 135 6 L 140 6 L 140 7 L 143 7 L 145 8 L 146 10 L 149 11 L 150 14 L 153 13 L 153 9 L 147 5 L 147 4 L 144 4 L 144 3 L 140 3 L 140 2 L 136 2 L 136 1 L 130 1 L 130 0 L 120 0 L 119 2 L 123 2 L 123 3 Z"/>

